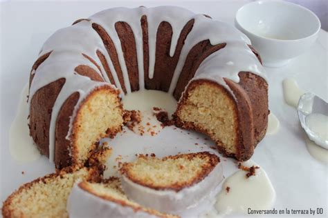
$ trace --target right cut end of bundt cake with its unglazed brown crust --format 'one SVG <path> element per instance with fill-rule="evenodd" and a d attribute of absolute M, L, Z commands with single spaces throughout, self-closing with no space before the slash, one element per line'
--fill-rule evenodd
<path fill-rule="evenodd" d="M 224 156 L 246 161 L 266 133 L 268 99 L 262 95 L 267 95 L 268 86 L 249 72 L 241 72 L 239 77 L 239 83 L 224 79 L 231 93 L 208 79 L 191 81 L 173 117 L 179 128 L 208 135 Z M 250 82 L 253 88 L 243 87 Z"/>

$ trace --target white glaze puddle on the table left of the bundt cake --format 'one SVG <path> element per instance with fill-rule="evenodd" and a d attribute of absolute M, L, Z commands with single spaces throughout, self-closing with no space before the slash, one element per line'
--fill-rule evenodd
<path fill-rule="evenodd" d="M 27 162 L 39 159 L 40 152 L 33 144 L 28 130 L 28 84 L 21 91 L 17 114 L 9 130 L 9 151 L 10 155 L 17 161 Z"/>

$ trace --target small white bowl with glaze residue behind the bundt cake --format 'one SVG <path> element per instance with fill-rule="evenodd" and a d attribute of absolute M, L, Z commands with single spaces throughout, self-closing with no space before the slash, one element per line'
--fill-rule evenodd
<path fill-rule="evenodd" d="M 284 66 L 308 50 L 320 30 L 316 14 L 285 1 L 255 1 L 237 11 L 236 27 L 262 57 L 264 66 Z"/>

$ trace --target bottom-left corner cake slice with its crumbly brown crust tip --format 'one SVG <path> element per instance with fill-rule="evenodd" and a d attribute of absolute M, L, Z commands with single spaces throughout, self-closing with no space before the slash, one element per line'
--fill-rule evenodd
<path fill-rule="evenodd" d="M 75 181 L 101 181 L 111 149 L 102 146 L 87 165 L 69 166 L 21 186 L 3 202 L 3 217 L 69 217 L 66 200 Z"/>

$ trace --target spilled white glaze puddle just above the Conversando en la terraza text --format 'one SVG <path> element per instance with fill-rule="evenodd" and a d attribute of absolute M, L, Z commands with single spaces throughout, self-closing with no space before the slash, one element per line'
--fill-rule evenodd
<path fill-rule="evenodd" d="M 244 166 L 258 166 L 255 162 L 248 160 Z M 227 192 L 226 188 L 230 190 Z M 269 210 L 275 202 L 275 190 L 268 175 L 259 168 L 255 175 L 246 178 L 246 172 L 238 170 L 228 177 L 217 196 L 216 209 L 220 215 L 231 213 L 247 214 L 251 210 Z"/>

